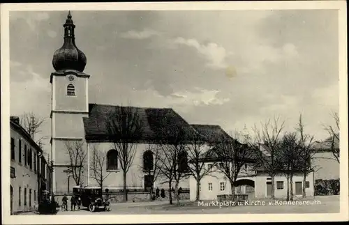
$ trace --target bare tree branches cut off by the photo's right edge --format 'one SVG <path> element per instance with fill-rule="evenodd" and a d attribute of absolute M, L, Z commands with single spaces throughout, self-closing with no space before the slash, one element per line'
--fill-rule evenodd
<path fill-rule="evenodd" d="M 325 130 L 329 133 L 329 139 L 325 142 L 330 146 L 332 155 L 339 163 L 339 116 L 336 112 L 332 112 L 334 125 L 324 125 Z"/>

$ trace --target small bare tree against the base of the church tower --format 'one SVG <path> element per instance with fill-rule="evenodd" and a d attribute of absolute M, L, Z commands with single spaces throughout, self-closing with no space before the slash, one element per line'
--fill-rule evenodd
<path fill-rule="evenodd" d="M 69 156 L 68 171 L 71 173 L 76 185 L 81 185 L 82 172 L 86 163 L 87 150 L 84 141 L 65 141 L 66 152 Z"/>

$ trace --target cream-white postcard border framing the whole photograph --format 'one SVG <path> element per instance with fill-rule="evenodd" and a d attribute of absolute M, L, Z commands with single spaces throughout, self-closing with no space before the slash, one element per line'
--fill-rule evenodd
<path fill-rule="evenodd" d="M 160 3 L 17 3 L 1 4 L 1 157 L 10 159 L 9 142 L 9 11 L 10 10 L 339 10 L 339 79 L 341 118 L 341 209 L 335 214 L 264 214 L 245 215 L 75 215 L 10 216 L 10 207 L 2 207 L 5 224 L 107 224 L 107 223 L 179 223 L 179 222 L 309 222 L 348 220 L 348 77 L 346 1 L 248 1 L 248 2 L 160 2 Z M 47 78 L 48 79 L 48 78 Z M 2 201 L 8 205 L 10 195 L 10 160 L 2 161 Z"/>

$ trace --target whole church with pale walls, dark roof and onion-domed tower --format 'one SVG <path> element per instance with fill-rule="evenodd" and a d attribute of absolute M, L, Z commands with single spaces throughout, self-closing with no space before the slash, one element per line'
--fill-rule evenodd
<path fill-rule="evenodd" d="M 87 57 L 75 44 L 74 29 L 75 25 L 69 12 L 64 24 L 64 44 L 54 52 L 52 59 L 55 70 L 50 76 L 52 85 L 51 154 L 54 166 L 52 191 L 58 195 L 71 193 L 73 186 L 76 185 L 69 170 L 72 155 L 69 155 L 66 149 L 66 143 L 75 142 L 82 143 L 82 148 L 87 151 L 84 157 L 85 163 L 82 165 L 84 169 L 80 185 L 99 186 L 96 179 L 91 176 L 91 163 L 93 163 L 91 149 L 98 148 L 106 157 L 103 162 L 103 173 L 107 173 L 108 176 L 103 180 L 103 189 L 121 190 L 124 187 L 124 177 L 120 157 L 118 157 L 118 150 L 113 147 L 112 139 L 115 137 L 112 137 L 107 129 L 110 113 L 118 111 L 121 106 L 89 102 L 91 76 L 84 72 Z M 190 125 L 170 108 L 128 107 L 128 109 L 137 111 L 138 120 L 142 122 L 142 132 L 136 137 L 126 137 L 136 146 L 133 162 L 126 175 L 127 189 L 142 192 L 149 187 L 151 177 L 142 169 L 145 164 L 144 159 L 153 157 L 147 146 L 149 142 L 166 144 L 164 140 L 171 138 L 169 131 L 174 127 L 185 127 L 187 134 L 200 133 L 202 129 L 196 128 L 205 127 L 205 134 L 209 133 L 210 138 L 212 135 L 228 135 L 218 125 Z M 167 130 L 168 135 L 161 130 Z M 184 158 L 186 158 L 185 155 Z M 188 189 L 189 180 L 181 180 L 179 186 L 182 189 Z M 155 180 L 154 187 L 168 189 L 168 184 Z"/>

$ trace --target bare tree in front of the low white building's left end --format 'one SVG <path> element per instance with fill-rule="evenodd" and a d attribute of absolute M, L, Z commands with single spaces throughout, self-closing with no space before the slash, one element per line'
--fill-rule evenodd
<path fill-rule="evenodd" d="M 196 180 L 195 201 L 200 200 L 200 181 L 204 176 L 209 175 L 216 167 L 216 162 L 211 164 L 211 168 L 205 166 L 205 162 L 215 156 L 214 151 L 208 149 L 209 146 L 207 146 L 207 144 L 209 141 L 207 141 L 207 137 L 209 137 L 208 132 L 205 134 L 195 132 L 188 146 L 188 172 Z"/>

